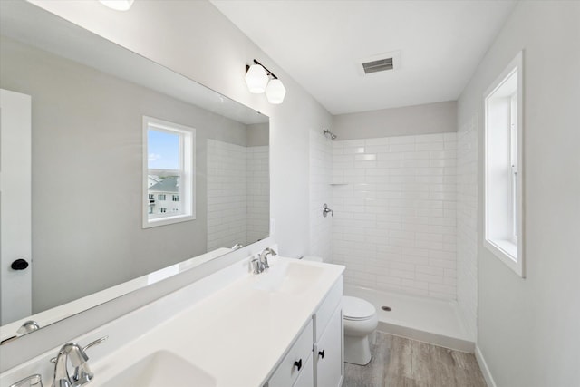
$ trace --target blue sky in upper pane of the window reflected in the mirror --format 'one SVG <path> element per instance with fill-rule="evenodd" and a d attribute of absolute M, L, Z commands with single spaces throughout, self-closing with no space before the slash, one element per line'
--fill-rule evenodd
<path fill-rule="evenodd" d="M 147 131 L 149 169 L 179 169 L 179 134 Z"/>

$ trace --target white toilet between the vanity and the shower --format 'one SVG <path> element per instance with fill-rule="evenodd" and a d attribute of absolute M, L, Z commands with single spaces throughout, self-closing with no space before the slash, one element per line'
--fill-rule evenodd
<path fill-rule="evenodd" d="M 306 261 L 323 262 L 319 256 L 304 256 Z M 343 295 L 344 362 L 366 365 L 371 362 L 369 334 L 379 324 L 375 307 L 358 297 Z"/>

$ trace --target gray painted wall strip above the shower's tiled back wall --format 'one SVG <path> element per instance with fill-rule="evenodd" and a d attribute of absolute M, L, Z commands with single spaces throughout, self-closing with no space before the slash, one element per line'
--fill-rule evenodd
<path fill-rule="evenodd" d="M 457 102 L 437 102 L 403 108 L 333 116 L 338 140 L 373 139 L 457 131 Z"/>

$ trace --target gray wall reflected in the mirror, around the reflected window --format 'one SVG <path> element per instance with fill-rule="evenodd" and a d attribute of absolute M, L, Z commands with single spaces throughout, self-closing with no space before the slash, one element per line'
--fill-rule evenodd
<path fill-rule="evenodd" d="M 0 46 L 2 88 L 33 96 L 34 313 L 205 253 L 206 140 L 245 146 L 246 125 L 10 39 Z M 143 115 L 196 129 L 193 221 L 141 227 Z"/>

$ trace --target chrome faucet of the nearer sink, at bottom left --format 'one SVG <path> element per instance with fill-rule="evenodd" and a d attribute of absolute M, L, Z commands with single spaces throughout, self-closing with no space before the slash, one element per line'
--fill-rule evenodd
<path fill-rule="evenodd" d="M 107 340 L 108 336 L 104 336 L 89 345 L 81 348 L 77 343 L 65 343 L 63 348 L 58 352 L 58 355 L 51 359 L 54 363 L 54 382 L 53 387 L 80 387 L 92 381 L 94 373 L 89 367 L 89 356 L 86 350 L 92 345 L 102 343 Z M 73 376 L 69 375 L 67 370 L 68 360 L 74 367 Z"/>

